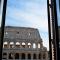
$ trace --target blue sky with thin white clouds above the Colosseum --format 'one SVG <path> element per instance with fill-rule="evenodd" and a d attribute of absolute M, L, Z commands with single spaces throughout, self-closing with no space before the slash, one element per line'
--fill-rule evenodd
<path fill-rule="evenodd" d="M 8 0 L 5 25 L 39 29 L 49 50 L 47 0 Z"/>

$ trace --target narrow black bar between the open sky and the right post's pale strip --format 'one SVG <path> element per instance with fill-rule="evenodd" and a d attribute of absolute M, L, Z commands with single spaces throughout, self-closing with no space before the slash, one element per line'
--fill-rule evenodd
<path fill-rule="evenodd" d="M 48 31 L 49 31 L 49 58 L 52 60 L 52 46 L 51 46 L 51 25 L 50 25 L 50 4 L 47 0 L 47 12 L 48 12 Z"/>

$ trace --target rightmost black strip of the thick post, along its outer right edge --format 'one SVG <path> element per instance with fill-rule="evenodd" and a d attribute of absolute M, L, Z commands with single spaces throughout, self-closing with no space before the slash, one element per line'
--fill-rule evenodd
<path fill-rule="evenodd" d="M 59 50 L 59 34 L 58 34 L 58 19 L 57 19 L 57 7 L 56 0 L 54 0 L 54 12 L 55 12 L 55 31 L 56 31 L 56 59 L 60 60 L 60 50 Z"/>

